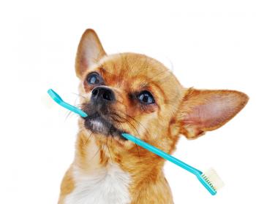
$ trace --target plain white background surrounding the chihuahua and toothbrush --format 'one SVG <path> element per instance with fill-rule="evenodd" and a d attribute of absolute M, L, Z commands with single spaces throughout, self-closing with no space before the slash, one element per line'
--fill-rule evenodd
<path fill-rule="evenodd" d="M 51 87 L 75 103 L 75 52 L 86 28 L 108 53 L 141 52 L 173 64 L 186 87 L 249 95 L 227 125 L 196 141 L 182 137 L 174 154 L 201 170 L 214 167 L 226 184 L 216 196 L 173 164 L 165 173 L 175 203 L 256 203 L 255 11 L 244 0 L 1 1 L 0 203 L 57 203 L 77 117 L 42 101 Z"/>

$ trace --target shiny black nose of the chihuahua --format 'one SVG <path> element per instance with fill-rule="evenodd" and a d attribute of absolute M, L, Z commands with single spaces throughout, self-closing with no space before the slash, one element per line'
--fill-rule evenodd
<path fill-rule="evenodd" d="M 108 87 L 95 87 L 91 92 L 91 100 L 98 102 L 115 101 L 113 90 Z"/>

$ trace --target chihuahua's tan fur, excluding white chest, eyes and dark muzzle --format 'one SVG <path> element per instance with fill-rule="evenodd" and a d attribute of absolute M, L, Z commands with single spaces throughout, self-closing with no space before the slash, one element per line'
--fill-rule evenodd
<path fill-rule="evenodd" d="M 86 47 L 88 44 L 96 47 L 94 53 Z M 94 55 L 94 58 L 90 59 L 89 55 Z M 94 88 L 85 82 L 91 71 L 101 74 L 105 85 L 116 95 L 116 103 L 111 105 L 111 109 L 124 120 L 115 126 L 169 154 L 174 151 L 180 134 L 197 138 L 207 130 L 217 129 L 234 117 L 248 101 L 244 93 L 237 91 L 186 89 L 162 63 L 146 55 L 106 55 L 97 34 L 89 29 L 80 40 L 76 59 L 79 91 L 85 96 L 81 97 L 81 103 L 89 101 Z M 129 93 L 145 89 L 154 95 L 156 103 L 141 109 L 138 103 L 130 100 Z M 212 106 L 216 109 L 224 106 L 227 111 L 222 113 L 222 109 L 217 109 L 215 113 L 210 109 Z M 203 113 L 197 114 L 200 111 Z M 75 188 L 70 173 L 74 166 L 89 173 L 105 167 L 109 162 L 118 163 L 131 176 L 129 194 L 132 204 L 173 203 L 162 171 L 165 160 L 131 141 L 92 134 L 84 127 L 83 119 L 79 119 L 75 160 L 62 181 L 59 204 L 64 203 L 64 197 Z"/>

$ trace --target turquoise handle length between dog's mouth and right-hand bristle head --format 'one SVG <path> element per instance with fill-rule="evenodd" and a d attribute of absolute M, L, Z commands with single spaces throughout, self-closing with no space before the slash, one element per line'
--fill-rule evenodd
<path fill-rule="evenodd" d="M 139 146 L 142 146 L 143 148 L 148 149 L 148 151 L 153 152 L 154 154 L 157 154 L 159 157 L 162 157 L 165 160 L 173 162 L 174 164 L 180 166 L 181 168 L 188 170 L 190 173 L 195 174 L 195 176 L 198 176 L 198 174 L 199 175 L 202 174 L 200 170 L 197 170 L 196 168 L 193 168 L 192 166 L 187 165 L 181 160 L 178 160 L 176 157 L 173 157 L 170 154 L 167 154 L 162 150 L 158 149 L 157 147 L 152 146 L 151 144 L 148 144 L 145 141 L 140 140 L 140 138 L 136 138 L 135 136 L 129 135 L 127 133 L 122 133 L 122 136 L 124 136 L 124 138 L 127 138 L 129 141 L 133 141 L 135 144 L 138 144 Z"/>

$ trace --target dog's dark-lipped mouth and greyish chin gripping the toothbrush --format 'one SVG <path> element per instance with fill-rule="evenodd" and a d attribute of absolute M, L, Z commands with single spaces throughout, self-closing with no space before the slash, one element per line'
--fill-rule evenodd
<path fill-rule="evenodd" d="M 105 136 L 118 136 L 124 140 L 121 133 L 124 131 L 113 125 L 110 120 L 102 117 L 98 112 L 89 115 L 84 119 L 84 125 L 87 129 L 91 130 L 92 133 L 99 133 Z"/>

